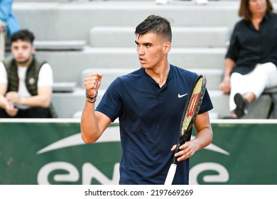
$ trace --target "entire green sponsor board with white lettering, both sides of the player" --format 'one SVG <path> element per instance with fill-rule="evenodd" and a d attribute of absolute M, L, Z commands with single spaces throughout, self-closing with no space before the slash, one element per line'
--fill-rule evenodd
<path fill-rule="evenodd" d="M 190 183 L 277 184 L 277 122 L 221 120 L 212 129 L 212 144 L 190 158 Z M 84 144 L 80 120 L 0 120 L 0 184 L 117 184 L 120 158 L 118 124 Z"/>

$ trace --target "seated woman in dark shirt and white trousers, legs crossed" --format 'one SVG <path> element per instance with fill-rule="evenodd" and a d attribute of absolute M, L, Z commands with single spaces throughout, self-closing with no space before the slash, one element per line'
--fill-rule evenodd
<path fill-rule="evenodd" d="M 234 118 L 247 114 L 264 89 L 277 86 L 277 14 L 269 0 L 243 0 L 226 54 L 224 79 Z"/>

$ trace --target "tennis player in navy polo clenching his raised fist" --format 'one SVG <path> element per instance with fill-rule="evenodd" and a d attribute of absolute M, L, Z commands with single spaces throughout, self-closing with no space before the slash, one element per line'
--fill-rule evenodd
<path fill-rule="evenodd" d="M 185 102 L 197 74 L 168 63 L 170 21 L 148 16 L 136 27 L 136 50 L 141 68 L 117 77 L 94 111 L 102 75 L 85 78 L 86 102 L 81 118 L 82 139 L 90 144 L 119 117 L 122 158 L 119 184 L 163 184 L 173 161 Z M 189 159 L 212 141 L 206 90 L 195 120 L 196 138 L 180 146 L 173 184 L 188 184 Z M 171 150 L 170 150 L 171 149 Z"/>

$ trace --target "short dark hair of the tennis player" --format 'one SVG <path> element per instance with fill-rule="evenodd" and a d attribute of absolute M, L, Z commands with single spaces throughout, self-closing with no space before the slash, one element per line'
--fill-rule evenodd
<path fill-rule="evenodd" d="M 172 40 L 170 21 L 161 16 L 150 15 L 138 26 L 136 26 L 135 34 L 141 36 L 146 33 L 161 35 L 169 42 Z"/>

